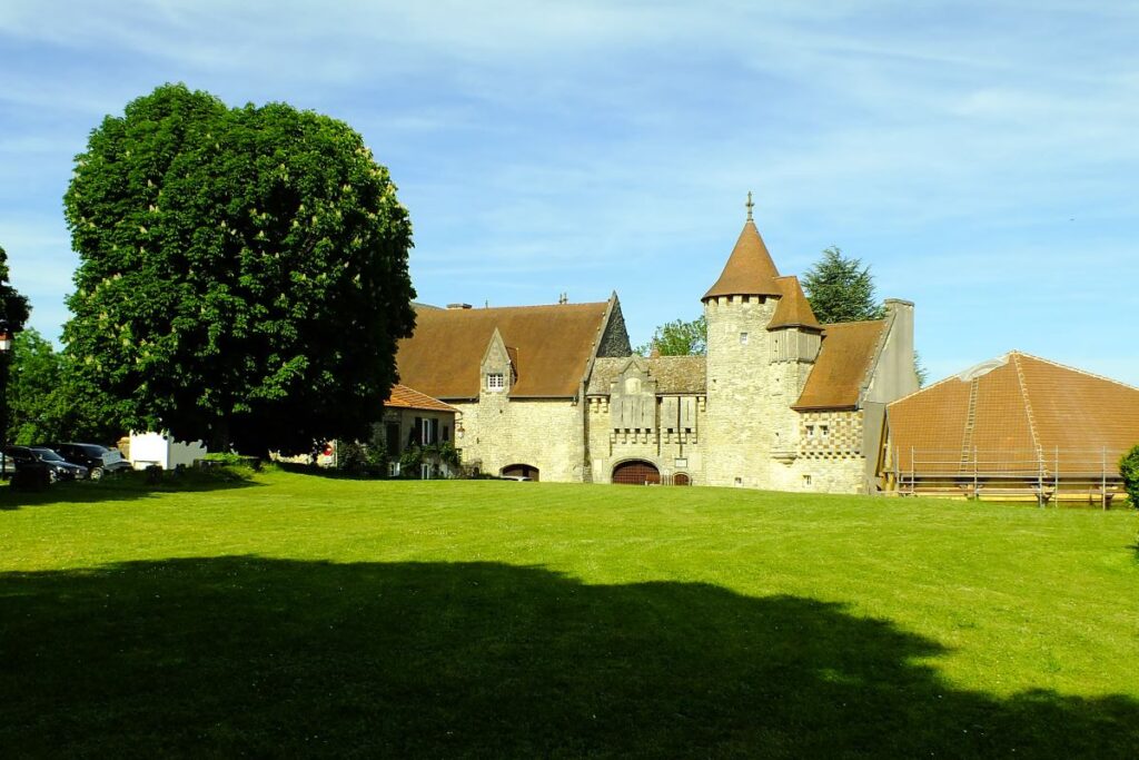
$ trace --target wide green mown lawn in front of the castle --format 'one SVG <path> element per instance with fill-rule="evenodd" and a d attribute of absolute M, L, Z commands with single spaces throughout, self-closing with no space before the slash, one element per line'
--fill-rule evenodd
<path fill-rule="evenodd" d="M 0 489 L 0 755 L 1139 757 L 1130 509 Z"/>

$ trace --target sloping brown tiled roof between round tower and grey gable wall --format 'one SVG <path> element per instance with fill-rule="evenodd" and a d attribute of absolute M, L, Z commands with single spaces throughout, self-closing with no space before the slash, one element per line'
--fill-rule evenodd
<path fill-rule="evenodd" d="M 885 319 L 822 326 L 822 348 L 793 409 L 855 409 Z"/>

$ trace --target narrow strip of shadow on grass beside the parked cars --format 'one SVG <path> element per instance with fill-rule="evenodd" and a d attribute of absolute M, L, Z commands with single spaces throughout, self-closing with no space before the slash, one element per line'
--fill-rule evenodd
<path fill-rule="evenodd" d="M 126 501 L 148 499 L 157 493 L 218 491 L 255 485 L 259 483 L 252 480 L 252 473 L 241 469 L 167 471 L 158 477 L 146 472 L 125 472 L 108 475 L 98 482 L 68 481 L 35 490 L 5 485 L 0 488 L 0 512 L 62 501 Z"/>

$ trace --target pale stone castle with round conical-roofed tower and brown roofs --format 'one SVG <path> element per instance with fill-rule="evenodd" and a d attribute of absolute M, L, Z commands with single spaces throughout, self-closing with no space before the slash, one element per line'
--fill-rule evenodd
<path fill-rule="evenodd" d="M 874 492 L 888 402 L 918 387 L 913 304 L 820 325 L 748 218 L 704 294 L 706 357 L 633 354 L 604 303 L 424 308 L 401 383 L 456 407 L 483 472 L 595 483 Z"/>

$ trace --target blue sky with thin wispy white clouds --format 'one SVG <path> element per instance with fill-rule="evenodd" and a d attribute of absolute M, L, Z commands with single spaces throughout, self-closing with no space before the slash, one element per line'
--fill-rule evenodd
<path fill-rule="evenodd" d="M 1139 5 L 0 3 L 0 245 L 58 337 L 62 197 L 164 82 L 342 119 L 419 300 L 699 313 L 754 191 L 782 273 L 838 245 L 917 304 L 931 379 L 1010 349 L 1139 385 Z"/>

